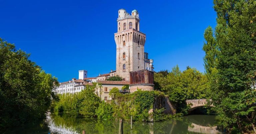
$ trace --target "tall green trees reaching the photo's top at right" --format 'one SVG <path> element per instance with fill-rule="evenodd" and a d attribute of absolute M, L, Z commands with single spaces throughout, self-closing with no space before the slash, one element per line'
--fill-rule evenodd
<path fill-rule="evenodd" d="M 219 126 L 256 133 L 256 1 L 214 0 L 214 9 L 215 36 L 206 29 L 203 50 L 205 69 L 215 86 L 211 97 L 219 112 Z"/>

